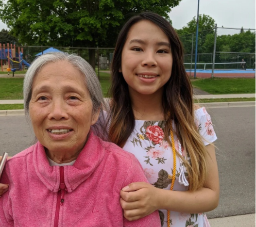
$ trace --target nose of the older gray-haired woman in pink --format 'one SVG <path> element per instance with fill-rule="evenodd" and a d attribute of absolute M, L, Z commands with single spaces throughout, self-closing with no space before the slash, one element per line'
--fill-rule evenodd
<path fill-rule="evenodd" d="M 55 120 L 68 119 L 66 103 L 64 100 L 52 100 L 48 118 Z"/>

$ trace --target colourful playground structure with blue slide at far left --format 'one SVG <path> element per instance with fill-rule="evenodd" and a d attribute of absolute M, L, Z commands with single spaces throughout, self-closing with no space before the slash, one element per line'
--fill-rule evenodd
<path fill-rule="evenodd" d="M 16 70 L 24 70 L 24 65 L 27 67 L 30 66 L 23 59 L 23 48 L 18 47 L 18 52 L 16 52 L 15 44 L 9 43 L 7 43 L 7 46 L 0 43 L 0 64 L 2 72 L 7 71 L 9 75 L 9 72 L 12 71 L 13 76 Z"/>

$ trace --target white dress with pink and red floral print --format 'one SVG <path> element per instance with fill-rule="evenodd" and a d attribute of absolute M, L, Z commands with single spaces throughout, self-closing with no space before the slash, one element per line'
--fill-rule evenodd
<path fill-rule="evenodd" d="M 133 153 L 148 179 L 148 181 L 157 188 L 170 190 L 171 178 L 173 172 L 172 149 L 168 142 L 164 140 L 164 121 L 142 121 L 136 120 L 135 129 L 127 140 L 124 150 Z M 214 142 L 217 137 L 214 132 L 210 115 L 205 108 L 195 111 L 195 124 L 203 137 L 206 145 Z M 179 150 L 177 137 L 174 136 L 175 148 Z M 182 155 L 185 157 L 184 150 Z M 187 191 L 188 187 L 179 183 L 180 160 L 176 156 L 176 178 L 174 182 L 174 191 Z M 185 176 L 187 173 L 185 172 Z M 161 225 L 167 227 L 167 211 L 159 210 Z M 170 212 L 171 227 L 210 227 L 205 213 L 181 213 Z"/>

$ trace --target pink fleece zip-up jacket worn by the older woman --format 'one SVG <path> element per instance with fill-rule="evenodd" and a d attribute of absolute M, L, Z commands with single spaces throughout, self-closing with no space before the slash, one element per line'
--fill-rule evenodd
<path fill-rule="evenodd" d="M 6 163 L 0 227 L 160 227 L 157 211 L 123 217 L 120 190 L 136 181 L 147 179 L 135 156 L 93 133 L 72 166 L 50 166 L 37 142 Z"/>

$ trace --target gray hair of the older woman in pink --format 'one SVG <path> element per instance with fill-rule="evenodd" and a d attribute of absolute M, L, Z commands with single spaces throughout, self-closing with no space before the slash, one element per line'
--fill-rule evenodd
<path fill-rule="evenodd" d="M 32 85 L 35 76 L 39 73 L 40 69 L 48 64 L 64 61 L 68 62 L 77 68 L 85 79 L 85 86 L 89 91 L 92 105 L 93 105 L 93 113 L 96 113 L 100 109 L 100 116 L 97 123 L 92 127 L 93 131 L 96 135 L 101 137 L 103 140 L 106 139 L 105 133 L 105 120 L 103 115 L 104 108 L 104 100 L 102 96 L 102 89 L 99 79 L 97 75 L 89 63 L 85 61 L 82 57 L 76 54 L 68 54 L 63 52 L 51 52 L 47 54 L 43 54 L 40 57 L 37 57 L 33 63 L 28 68 L 28 71 L 24 77 L 23 82 L 23 96 L 24 96 L 24 109 L 25 114 L 29 117 L 29 103 L 32 97 Z"/>

